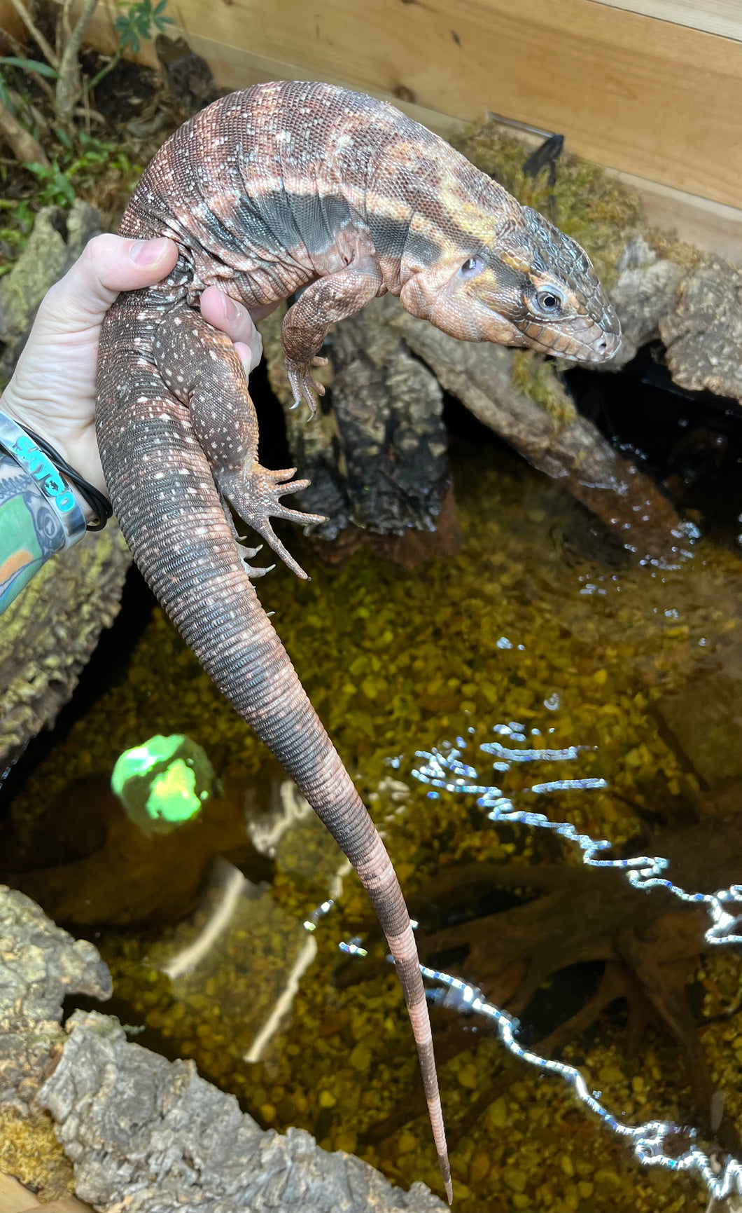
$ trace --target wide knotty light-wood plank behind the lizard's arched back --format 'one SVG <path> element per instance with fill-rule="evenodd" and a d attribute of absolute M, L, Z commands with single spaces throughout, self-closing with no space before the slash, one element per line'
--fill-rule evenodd
<path fill-rule="evenodd" d="M 101 5 L 97 29 L 109 21 Z M 593 0 L 172 0 L 219 82 L 266 61 L 561 131 L 599 164 L 742 199 L 742 42 Z"/>

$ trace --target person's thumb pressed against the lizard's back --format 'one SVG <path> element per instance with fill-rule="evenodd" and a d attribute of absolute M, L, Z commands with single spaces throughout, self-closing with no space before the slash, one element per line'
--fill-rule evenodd
<path fill-rule="evenodd" d="M 39 309 L 40 319 L 58 332 L 97 324 L 120 291 L 152 286 L 170 273 L 177 260 L 177 246 L 165 237 L 127 240 L 97 235 L 47 292 Z"/>

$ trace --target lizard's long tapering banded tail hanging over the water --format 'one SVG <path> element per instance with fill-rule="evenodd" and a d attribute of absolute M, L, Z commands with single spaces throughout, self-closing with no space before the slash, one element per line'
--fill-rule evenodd
<path fill-rule="evenodd" d="M 118 341 L 120 342 L 120 334 Z M 152 364 L 107 341 L 98 443 L 119 524 L 173 623 L 296 781 L 356 870 L 407 1004 L 449 1202 L 451 1172 L 417 946 L 387 850 L 257 598 L 188 410 Z"/>

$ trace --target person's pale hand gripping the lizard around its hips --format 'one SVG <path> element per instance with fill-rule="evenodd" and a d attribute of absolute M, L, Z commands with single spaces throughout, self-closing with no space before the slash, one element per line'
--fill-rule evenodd
<path fill-rule="evenodd" d="M 98 336 L 120 291 L 159 283 L 173 268 L 177 247 L 166 238 L 95 237 L 72 269 L 47 291 L 0 408 L 28 426 L 97 489 L 105 480 L 96 442 Z M 245 372 L 263 347 L 250 313 L 216 286 L 201 295 L 201 315 L 234 342 Z"/>

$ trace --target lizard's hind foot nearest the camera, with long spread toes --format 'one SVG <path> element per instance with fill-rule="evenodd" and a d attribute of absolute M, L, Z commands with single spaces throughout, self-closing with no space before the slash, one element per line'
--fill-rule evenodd
<path fill-rule="evenodd" d="M 270 518 L 285 518 L 302 526 L 327 520 L 324 514 L 307 514 L 301 509 L 290 509 L 289 506 L 281 505 L 279 497 L 286 492 L 301 492 L 309 486 L 309 480 L 292 480 L 295 472 L 295 467 L 273 472 L 255 462 L 246 471 L 222 472 L 219 491 L 234 506 L 240 518 L 270 545 L 276 556 L 280 556 L 284 564 L 296 573 L 297 577 L 309 581 L 308 575 L 284 547 L 270 525 Z"/>

